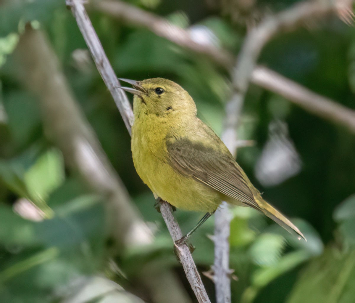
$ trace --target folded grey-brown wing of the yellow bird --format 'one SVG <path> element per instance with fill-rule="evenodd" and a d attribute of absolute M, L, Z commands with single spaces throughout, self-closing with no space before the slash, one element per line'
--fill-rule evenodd
<path fill-rule="evenodd" d="M 224 195 L 251 207 L 257 206 L 243 177 L 244 172 L 229 152 L 218 146 L 213 148 L 186 137 L 168 139 L 166 147 L 170 164 L 181 174 L 192 176 Z"/>

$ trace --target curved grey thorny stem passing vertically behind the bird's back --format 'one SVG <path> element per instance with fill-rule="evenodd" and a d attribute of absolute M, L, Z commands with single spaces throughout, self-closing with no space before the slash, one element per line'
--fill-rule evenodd
<path fill-rule="evenodd" d="M 222 139 L 231 153 L 236 154 L 236 129 L 240 112 L 250 79 L 255 72 L 257 59 L 264 45 L 276 34 L 291 30 L 310 17 L 324 16 L 333 12 L 334 7 L 334 5 L 326 3 L 304 2 L 268 17 L 246 36 L 235 70 L 232 73 L 233 93 L 226 105 L 225 131 Z M 275 78 L 275 73 L 273 76 Z M 225 234 L 230 229 L 230 214 L 226 208 L 217 213 L 216 223 L 214 242 L 217 246 L 215 247 L 213 267 L 214 281 L 217 303 L 223 303 L 230 302 L 229 241 Z"/>

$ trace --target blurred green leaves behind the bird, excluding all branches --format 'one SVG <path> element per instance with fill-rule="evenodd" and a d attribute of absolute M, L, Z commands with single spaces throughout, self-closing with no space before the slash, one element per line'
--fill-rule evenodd
<path fill-rule="evenodd" d="M 208 1 L 137 0 L 134 5 L 181 27 L 194 23 L 201 35 L 235 54 L 245 36 L 243 26 Z M 199 116 L 221 133 L 230 93 L 225 71 L 148 30 L 95 11 L 90 18 L 119 77 L 160 76 L 178 82 L 194 98 Z M 111 250 L 102 197 L 66 169 L 61 151 L 44 133 L 38 103 L 18 82 L 11 57 L 26 22 L 49 36 L 73 94 L 155 232 L 152 245 Z M 273 39 L 260 62 L 355 109 L 354 49 L 355 29 L 333 18 Z M 0 302 L 100 302 L 107 297 L 98 291 L 102 285 L 109 285 L 113 302 L 140 302 L 113 282 L 92 278 L 99 274 L 152 302 L 139 276 L 142 268 L 154 266 L 172 269 L 190 292 L 169 233 L 153 208 L 153 195 L 133 168 L 129 135 L 64 1 L 0 1 L 0 66 Z M 302 167 L 283 182 L 264 187 L 254 170 L 275 120 L 287 126 Z M 302 218 L 295 223 L 308 241 L 298 241 L 253 209 L 232 209 L 233 302 L 354 302 L 354 136 L 255 86 L 247 94 L 241 121 L 239 137 L 255 140 L 255 145 L 239 150 L 239 163 L 266 200 L 288 216 Z M 201 215 L 176 212 L 185 232 Z M 207 237 L 212 233 L 213 218 L 192 236 L 201 271 L 213 264 L 213 243 Z M 116 267 L 110 266 L 110 258 Z M 204 282 L 213 301 L 213 284 L 207 278 Z M 97 290 L 87 301 L 73 296 L 83 285 Z"/>

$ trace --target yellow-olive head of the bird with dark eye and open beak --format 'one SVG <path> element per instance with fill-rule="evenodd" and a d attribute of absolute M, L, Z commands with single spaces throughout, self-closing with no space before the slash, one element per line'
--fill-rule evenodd
<path fill-rule="evenodd" d="M 189 93 L 179 84 L 164 79 L 151 78 L 142 81 L 120 79 L 133 86 L 120 87 L 133 97 L 133 112 L 136 118 L 142 113 L 166 117 L 191 114 L 196 116 L 196 105 Z"/>

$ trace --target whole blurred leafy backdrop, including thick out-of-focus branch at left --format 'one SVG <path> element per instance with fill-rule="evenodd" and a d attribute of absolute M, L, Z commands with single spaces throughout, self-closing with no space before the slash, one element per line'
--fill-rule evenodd
<path fill-rule="evenodd" d="M 196 302 L 154 197 L 133 167 L 129 133 L 64 2 L 0 1 L 0 302 Z M 237 55 L 251 26 L 295 2 L 127 3 Z M 222 133 L 228 71 L 135 22 L 87 9 L 119 78 L 176 81 L 198 116 Z M 336 16 L 272 39 L 259 63 L 355 109 L 355 28 Z M 43 89 L 47 81 L 52 91 Z M 72 142 L 80 136 L 96 145 L 76 157 Z M 253 209 L 231 209 L 232 302 L 355 302 L 354 133 L 251 85 L 238 137 L 252 140 L 238 149 L 239 164 L 308 241 Z M 101 154 L 103 173 L 92 150 Z M 175 216 L 186 233 L 202 214 Z M 130 234 L 132 222 L 140 227 Z M 191 238 L 207 276 L 213 228 L 212 217 Z"/>

